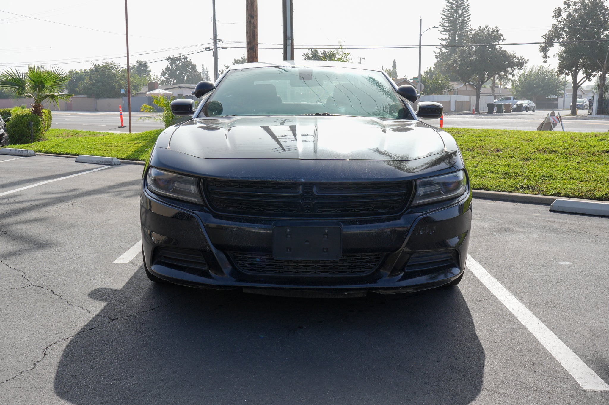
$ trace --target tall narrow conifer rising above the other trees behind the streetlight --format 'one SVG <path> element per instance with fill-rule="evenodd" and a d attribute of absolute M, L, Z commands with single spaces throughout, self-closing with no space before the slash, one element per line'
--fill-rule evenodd
<path fill-rule="evenodd" d="M 465 44 L 468 35 L 471 32 L 470 26 L 470 1 L 469 0 L 446 0 L 444 9 L 442 9 L 442 20 L 440 21 L 440 34 L 444 37 L 440 38 L 442 45 L 460 45 Z M 449 72 L 446 62 L 452 58 L 458 47 L 443 47 L 436 52 L 435 68 L 442 72 Z M 456 77 L 454 77 L 456 79 Z"/>

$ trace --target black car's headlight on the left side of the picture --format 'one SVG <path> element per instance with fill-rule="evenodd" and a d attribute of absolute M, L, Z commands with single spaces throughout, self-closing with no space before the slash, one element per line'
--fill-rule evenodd
<path fill-rule="evenodd" d="M 199 193 L 199 179 L 195 177 L 150 168 L 146 175 L 146 186 L 150 191 L 161 196 L 203 203 Z"/>

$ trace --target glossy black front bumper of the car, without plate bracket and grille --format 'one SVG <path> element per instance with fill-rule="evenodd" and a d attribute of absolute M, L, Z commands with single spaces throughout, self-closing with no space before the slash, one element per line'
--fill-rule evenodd
<path fill-rule="evenodd" d="M 270 255 L 275 220 L 245 222 L 219 216 L 201 206 L 155 196 L 145 188 L 140 209 L 144 260 L 149 271 L 175 284 L 219 289 L 397 293 L 434 288 L 463 273 L 471 227 L 468 192 L 451 205 L 430 206 L 428 212 L 409 209 L 397 217 L 339 221 L 343 255 L 381 257 L 366 274 L 252 274 L 239 268 L 228 252 Z M 200 254 L 205 266 L 161 260 L 158 252 L 163 249 Z M 414 256 L 417 253 L 419 256 Z M 432 263 L 434 253 L 437 257 L 450 253 L 454 260 L 436 261 L 426 267 L 420 257 L 430 257 Z M 417 261 L 412 257 L 418 257 L 418 265 L 409 264 Z"/>

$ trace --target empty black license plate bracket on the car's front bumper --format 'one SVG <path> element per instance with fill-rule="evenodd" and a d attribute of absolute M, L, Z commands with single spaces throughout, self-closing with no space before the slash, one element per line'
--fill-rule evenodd
<path fill-rule="evenodd" d="M 277 260 L 338 260 L 342 256 L 340 226 L 273 226 Z"/>

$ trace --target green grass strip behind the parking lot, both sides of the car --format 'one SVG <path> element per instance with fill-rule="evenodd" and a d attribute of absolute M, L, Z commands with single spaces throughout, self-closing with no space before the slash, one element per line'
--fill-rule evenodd
<path fill-rule="evenodd" d="M 609 134 L 447 128 L 474 189 L 609 200 Z M 62 155 L 146 160 L 161 130 L 138 134 L 51 129 L 12 148 Z"/>

